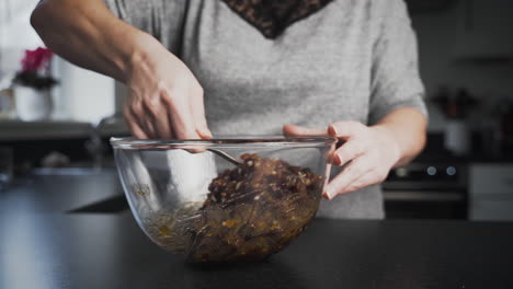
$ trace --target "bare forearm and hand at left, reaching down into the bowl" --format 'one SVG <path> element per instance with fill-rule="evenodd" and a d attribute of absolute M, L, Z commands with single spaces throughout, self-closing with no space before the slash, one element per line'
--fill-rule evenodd
<path fill-rule="evenodd" d="M 210 137 L 203 89 L 192 72 L 155 37 L 117 19 L 103 0 L 41 1 L 31 23 L 59 56 L 128 85 L 124 115 L 135 137 Z"/>

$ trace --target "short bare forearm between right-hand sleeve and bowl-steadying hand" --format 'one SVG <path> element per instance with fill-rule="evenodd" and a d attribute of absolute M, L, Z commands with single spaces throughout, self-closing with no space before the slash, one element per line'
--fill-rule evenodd
<path fill-rule="evenodd" d="M 425 146 L 426 127 L 426 117 L 410 107 L 392 111 L 373 126 L 389 135 L 397 144 L 400 158 L 395 166 L 407 164 L 422 151 Z"/>

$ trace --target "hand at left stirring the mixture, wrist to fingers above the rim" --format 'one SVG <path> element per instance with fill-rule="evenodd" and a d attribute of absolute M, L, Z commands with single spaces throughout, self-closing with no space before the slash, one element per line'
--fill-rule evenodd
<path fill-rule="evenodd" d="M 145 35 L 126 67 L 125 119 L 139 139 L 212 138 L 203 88 L 191 70 L 157 39 Z"/>

